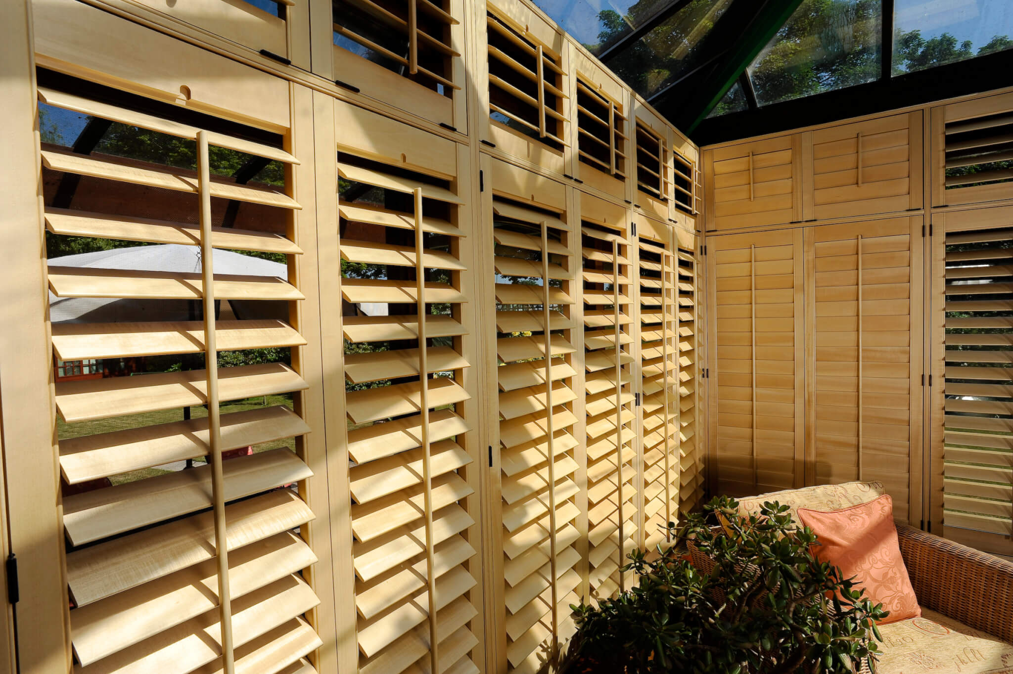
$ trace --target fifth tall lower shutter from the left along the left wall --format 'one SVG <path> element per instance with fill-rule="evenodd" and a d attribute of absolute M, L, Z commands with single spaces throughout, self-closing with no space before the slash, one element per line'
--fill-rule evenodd
<path fill-rule="evenodd" d="M 643 230 L 642 224 L 638 224 Z M 663 232 L 668 228 L 660 227 Z M 666 540 L 679 509 L 679 290 L 671 243 L 641 234 L 637 256 L 643 442 L 643 538 Z"/>

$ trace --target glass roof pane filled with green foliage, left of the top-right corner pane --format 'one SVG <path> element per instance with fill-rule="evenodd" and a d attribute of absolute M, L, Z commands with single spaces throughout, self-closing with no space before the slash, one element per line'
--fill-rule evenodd
<path fill-rule="evenodd" d="M 750 66 L 760 105 L 879 78 L 880 0 L 804 0 Z"/>

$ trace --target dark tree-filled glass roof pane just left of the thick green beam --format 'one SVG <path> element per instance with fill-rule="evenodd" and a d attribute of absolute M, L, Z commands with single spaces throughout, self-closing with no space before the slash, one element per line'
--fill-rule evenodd
<path fill-rule="evenodd" d="M 698 65 L 695 48 L 730 4 L 731 0 L 690 0 L 636 43 L 610 56 L 605 65 L 646 98 Z"/>

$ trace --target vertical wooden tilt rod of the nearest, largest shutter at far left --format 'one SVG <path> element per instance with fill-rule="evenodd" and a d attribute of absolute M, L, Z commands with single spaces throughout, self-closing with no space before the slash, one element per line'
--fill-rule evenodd
<path fill-rule="evenodd" d="M 229 588 L 229 541 L 225 521 L 225 477 L 222 472 L 222 420 L 218 396 L 218 345 L 215 336 L 215 249 L 211 240 L 211 160 L 208 134 L 197 133 L 198 189 L 201 208 L 201 273 L 204 300 L 204 367 L 208 384 L 208 439 L 211 444 L 211 485 L 215 507 L 215 554 L 218 560 L 218 606 L 222 629 L 222 666 L 235 674 L 232 640 L 232 599 Z"/>

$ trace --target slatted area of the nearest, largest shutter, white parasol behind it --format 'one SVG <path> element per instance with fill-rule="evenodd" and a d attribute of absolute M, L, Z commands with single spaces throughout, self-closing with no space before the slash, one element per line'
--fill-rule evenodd
<path fill-rule="evenodd" d="M 66 125 L 68 115 L 83 116 L 90 130 L 72 147 L 60 133 L 43 145 L 53 243 L 74 236 L 163 244 L 128 244 L 119 257 L 91 262 L 116 269 L 82 266 L 79 256 L 50 260 L 58 362 L 102 358 L 106 370 L 139 370 L 56 384 L 75 671 L 186 674 L 233 661 L 237 672 L 252 671 L 254 661 L 258 672 L 314 671 L 304 658 L 321 641 L 303 615 L 319 600 L 301 575 L 316 562 L 304 540 L 314 514 L 296 488 L 313 478 L 301 437 L 311 431 L 300 394 L 306 340 L 296 302 L 283 311 L 295 325 L 246 318 L 259 301 L 303 297 L 281 277 L 298 277 L 302 253 L 291 238 L 300 205 L 286 191 L 288 166 L 298 162 L 278 147 L 209 132 L 203 122 L 220 127 L 211 117 L 184 124 L 171 110 L 151 114 L 46 88 L 40 97 L 41 115 L 56 130 L 82 129 Z M 192 153 L 197 170 L 152 161 L 137 150 L 141 135 L 184 158 Z M 210 175 L 244 162 L 280 162 L 264 174 L 274 185 Z M 158 220 L 145 217 L 150 209 Z M 278 277 L 221 273 L 238 255 L 225 248 L 281 256 L 288 266 L 278 265 Z M 194 261 L 201 273 L 188 272 Z M 95 299 L 85 322 L 59 322 L 74 319 L 65 298 Z M 186 317 L 186 302 L 198 320 L 178 316 Z M 101 322 L 109 316 L 119 322 Z M 226 352 L 265 348 L 291 349 L 292 364 L 226 366 Z M 143 374 L 146 364 L 183 367 Z M 220 452 L 243 448 L 216 477 Z M 228 634 L 232 649 L 223 648 Z"/>

